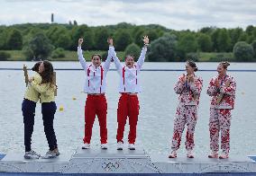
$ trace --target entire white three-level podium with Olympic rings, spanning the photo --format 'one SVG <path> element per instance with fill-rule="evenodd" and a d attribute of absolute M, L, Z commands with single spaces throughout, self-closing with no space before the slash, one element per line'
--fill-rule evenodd
<path fill-rule="evenodd" d="M 253 156 L 251 156 L 253 158 Z M 190 159 L 178 155 L 169 159 L 166 154 L 146 154 L 137 147 L 131 151 L 115 147 L 107 150 L 78 149 L 74 154 L 60 154 L 54 159 L 26 160 L 23 154 L 6 154 L 0 159 L 0 172 L 48 173 L 206 173 L 254 172 L 256 163 L 250 157 L 230 155 L 229 159 L 209 159 L 197 156 Z"/>

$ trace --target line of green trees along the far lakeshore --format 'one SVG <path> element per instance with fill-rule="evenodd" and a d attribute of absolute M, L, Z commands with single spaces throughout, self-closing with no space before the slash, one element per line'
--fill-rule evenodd
<path fill-rule="evenodd" d="M 96 27 L 70 22 L 2 25 L 0 59 L 6 57 L 3 50 L 23 50 L 28 60 L 63 57 L 64 50 L 77 50 L 79 38 L 84 38 L 82 47 L 87 50 L 106 50 L 108 37 L 114 39 L 117 51 L 138 56 L 144 35 L 151 40 L 149 61 L 197 60 L 199 52 L 232 52 L 233 61 L 256 61 L 256 26 L 249 25 L 245 30 L 205 27 L 198 31 L 174 31 L 157 24 L 126 22 Z"/>

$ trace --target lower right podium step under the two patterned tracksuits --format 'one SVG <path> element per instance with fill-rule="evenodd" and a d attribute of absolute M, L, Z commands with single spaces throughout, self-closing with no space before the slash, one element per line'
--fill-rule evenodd
<path fill-rule="evenodd" d="M 230 158 L 221 160 L 207 155 L 196 155 L 195 158 L 180 155 L 170 159 L 168 155 L 153 154 L 151 162 L 161 173 L 256 172 L 256 163 L 241 155 L 230 155 Z"/>

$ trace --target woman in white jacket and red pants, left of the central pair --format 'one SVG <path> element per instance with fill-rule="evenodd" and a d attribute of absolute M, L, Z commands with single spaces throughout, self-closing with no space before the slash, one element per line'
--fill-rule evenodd
<path fill-rule="evenodd" d="M 101 65 L 101 56 L 95 54 L 92 56 L 92 64 L 88 65 L 83 57 L 81 45 L 83 39 L 78 40 L 78 59 L 81 66 L 86 72 L 86 83 L 84 92 L 87 92 L 87 102 L 85 106 L 85 137 L 83 149 L 90 148 L 92 128 L 96 116 L 100 126 L 101 148 L 107 149 L 107 128 L 106 128 L 106 110 L 107 103 L 105 100 L 106 74 L 111 64 L 111 49 L 109 47 L 108 56 L 105 64 Z"/>

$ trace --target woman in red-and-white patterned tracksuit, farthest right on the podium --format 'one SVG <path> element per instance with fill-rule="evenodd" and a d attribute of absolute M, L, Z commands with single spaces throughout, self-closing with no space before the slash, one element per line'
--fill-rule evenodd
<path fill-rule="evenodd" d="M 226 75 L 227 66 L 229 66 L 227 62 L 223 62 L 218 66 L 219 75 L 211 79 L 207 89 L 207 94 L 212 97 L 209 119 L 210 149 L 212 154 L 208 155 L 209 158 L 218 157 L 219 132 L 221 132 L 221 149 L 223 150 L 220 158 L 228 158 L 230 150 L 231 110 L 233 110 L 234 105 L 236 83 L 232 76 Z M 218 103 L 217 99 L 221 93 L 224 94 L 224 97 Z"/>

